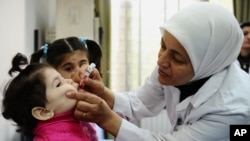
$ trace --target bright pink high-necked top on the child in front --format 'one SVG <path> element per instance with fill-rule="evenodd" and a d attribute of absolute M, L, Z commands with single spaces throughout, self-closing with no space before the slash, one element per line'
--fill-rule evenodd
<path fill-rule="evenodd" d="M 73 117 L 73 111 L 40 121 L 33 131 L 33 141 L 97 141 L 96 130 L 88 122 Z"/>

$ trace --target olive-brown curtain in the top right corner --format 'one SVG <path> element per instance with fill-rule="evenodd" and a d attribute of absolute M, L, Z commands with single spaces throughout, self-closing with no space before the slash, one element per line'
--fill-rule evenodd
<path fill-rule="evenodd" d="M 233 0 L 233 10 L 239 23 L 250 21 L 250 1 Z"/>

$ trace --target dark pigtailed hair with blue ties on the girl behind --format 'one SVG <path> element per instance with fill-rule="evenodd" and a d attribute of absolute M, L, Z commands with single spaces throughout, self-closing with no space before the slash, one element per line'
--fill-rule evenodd
<path fill-rule="evenodd" d="M 33 53 L 30 63 L 39 63 L 40 59 L 45 56 L 47 63 L 54 68 L 58 68 L 67 54 L 76 50 L 82 50 L 87 53 L 89 62 L 95 63 L 96 68 L 101 72 L 102 51 L 100 46 L 93 40 L 86 39 L 85 43 L 83 43 L 78 37 L 68 37 L 55 40 L 52 44 L 48 45 L 46 53 L 44 52 L 44 49 L 40 49 Z"/>

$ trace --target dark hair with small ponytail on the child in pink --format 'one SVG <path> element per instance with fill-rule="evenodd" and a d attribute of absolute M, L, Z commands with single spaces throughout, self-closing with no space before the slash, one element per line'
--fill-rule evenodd
<path fill-rule="evenodd" d="M 38 120 L 32 114 L 32 108 L 36 106 L 45 107 L 46 87 L 43 76 L 45 68 L 51 68 L 46 64 L 31 64 L 22 70 L 20 65 L 24 65 L 27 58 L 18 53 L 12 60 L 12 68 L 9 74 L 19 72 L 19 74 L 9 81 L 3 91 L 2 115 L 5 119 L 13 120 L 18 132 L 32 137 L 32 130 L 37 125 Z"/>

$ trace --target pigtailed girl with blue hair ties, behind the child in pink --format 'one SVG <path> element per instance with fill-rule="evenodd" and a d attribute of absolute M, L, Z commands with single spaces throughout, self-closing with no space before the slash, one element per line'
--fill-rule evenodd
<path fill-rule="evenodd" d="M 52 65 L 64 78 L 78 72 L 83 66 L 95 63 L 101 72 L 102 51 L 93 40 L 84 37 L 68 37 L 45 44 L 31 56 L 31 63 L 46 61 Z"/>

